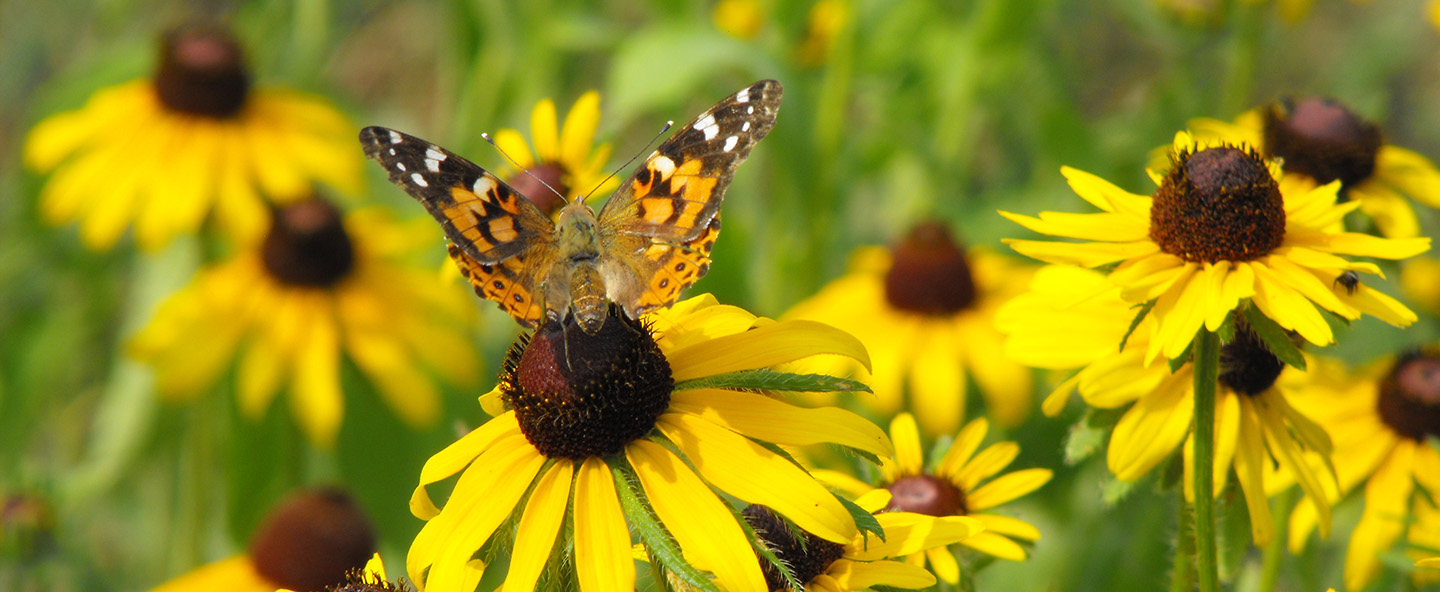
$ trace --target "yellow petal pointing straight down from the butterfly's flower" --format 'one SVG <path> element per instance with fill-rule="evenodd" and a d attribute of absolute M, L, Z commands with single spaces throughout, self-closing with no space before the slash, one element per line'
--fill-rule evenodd
<path fill-rule="evenodd" d="M 635 589 L 629 529 L 615 487 L 609 465 L 593 457 L 585 459 L 575 485 L 575 570 L 580 591 Z"/>

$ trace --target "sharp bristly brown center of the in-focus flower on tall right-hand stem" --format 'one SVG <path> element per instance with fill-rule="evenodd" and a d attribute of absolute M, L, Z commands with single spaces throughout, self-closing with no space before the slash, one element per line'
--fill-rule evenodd
<path fill-rule="evenodd" d="M 1284 200 L 1254 150 L 1171 156 L 1151 206 L 1151 239 L 1191 262 L 1253 261 L 1284 242 Z"/>

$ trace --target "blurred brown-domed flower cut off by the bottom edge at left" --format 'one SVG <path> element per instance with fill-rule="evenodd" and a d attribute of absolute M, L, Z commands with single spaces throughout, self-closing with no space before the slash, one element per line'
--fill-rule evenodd
<path fill-rule="evenodd" d="M 374 529 L 346 493 L 302 491 L 276 504 L 249 550 L 197 568 L 151 592 L 324 591 L 374 556 Z"/>

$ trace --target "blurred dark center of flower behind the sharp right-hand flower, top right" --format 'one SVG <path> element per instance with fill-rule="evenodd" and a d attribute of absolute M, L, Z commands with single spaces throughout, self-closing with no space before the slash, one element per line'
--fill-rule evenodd
<path fill-rule="evenodd" d="M 1380 127 L 1328 98 L 1283 99 L 1263 109 L 1264 147 L 1286 173 L 1351 187 L 1375 171 L 1384 145 Z"/>

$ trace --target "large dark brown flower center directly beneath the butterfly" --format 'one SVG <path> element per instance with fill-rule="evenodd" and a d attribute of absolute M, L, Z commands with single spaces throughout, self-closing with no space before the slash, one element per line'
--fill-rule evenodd
<path fill-rule="evenodd" d="M 500 393 L 520 431 L 550 458 L 619 452 L 670 406 L 670 362 L 641 321 L 611 305 L 596 334 L 547 321 L 505 354 Z"/>

